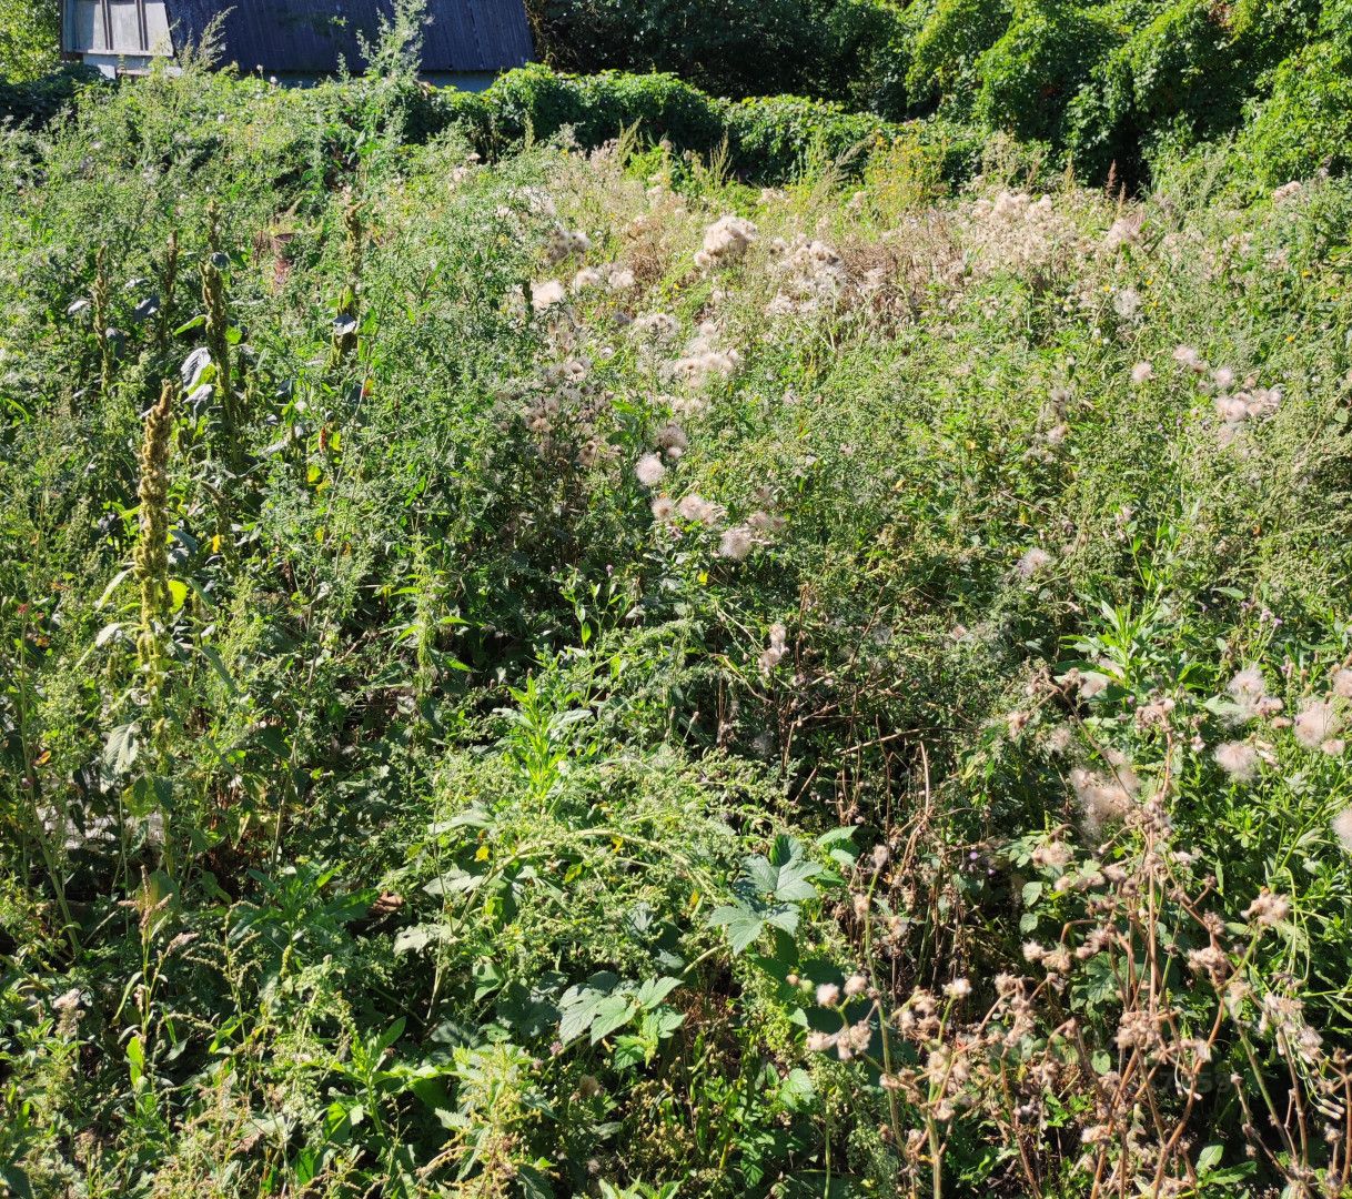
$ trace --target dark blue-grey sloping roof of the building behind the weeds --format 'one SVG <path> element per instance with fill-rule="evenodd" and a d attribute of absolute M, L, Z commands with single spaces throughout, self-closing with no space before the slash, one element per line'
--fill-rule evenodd
<path fill-rule="evenodd" d="M 166 0 L 176 49 L 200 42 L 224 12 L 223 61 L 242 72 L 323 73 L 337 70 L 339 58 L 360 70 L 357 35 L 375 42 L 380 16 L 388 19 L 392 7 L 392 0 Z M 530 54 L 522 0 L 429 0 L 423 70 L 502 70 Z"/>

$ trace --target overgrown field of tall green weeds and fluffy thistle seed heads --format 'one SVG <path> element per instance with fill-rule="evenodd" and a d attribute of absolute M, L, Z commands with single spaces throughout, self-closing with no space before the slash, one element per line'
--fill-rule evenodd
<path fill-rule="evenodd" d="M 0 139 L 0 1192 L 1338 1196 L 1352 182 Z"/>

